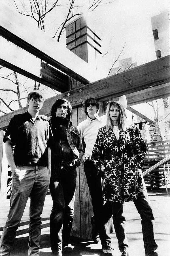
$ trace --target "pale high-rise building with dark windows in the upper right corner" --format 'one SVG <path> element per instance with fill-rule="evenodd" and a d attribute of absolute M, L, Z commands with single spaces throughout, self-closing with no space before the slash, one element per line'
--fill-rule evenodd
<path fill-rule="evenodd" d="M 157 59 L 169 54 L 169 11 L 151 17 Z"/>

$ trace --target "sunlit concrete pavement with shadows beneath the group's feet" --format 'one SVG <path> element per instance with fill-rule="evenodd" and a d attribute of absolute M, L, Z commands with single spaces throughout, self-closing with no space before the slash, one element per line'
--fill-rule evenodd
<path fill-rule="evenodd" d="M 170 255 L 170 189 L 169 194 L 166 194 L 165 188 L 160 188 L 156 191 L 148 191 L 151 205 L 154 211 L 156 222 L 155 238 L 159 245 L 161 256 Z M 46 196 L 44 209 L 42 213 L 42 233 L 41 233 L 41 249 L 40 256 L 50 256 L 50 229 L 49 217 L 52 208 L 52 199 L 50 195 Z M 7 219 L 9 210 L 9 200 L 1 203 L 0 207 L 0 235 L 2 234 L 3 226 Z M 129 241 L 130 256 L 145 256 L 141 219 L 133 204 L 133 202 L 124 203 L 124 216 L 127 220 L 127 237 Z M 76 218 L 76 216 L 75 216 Z M 14 243 L 11 256 L 27 256 L 28 250 L 28 221 L 29 221 L 29 200 L 22 217 L 22 221 L 17 231 L 16 240 Z M 118 249 L 118 242 L 113 232 L 111 234 L 112 247 L 114 248 L 114 255 L 120 256 Z M 93 241 L 85 241 L 78 238 L 71 238 L 70 240 L 73 251 L 70 253 L 63 253 L 67 256 L 83 256 L 94 255 L 100 256 L 101 243 L 94 244 Z"/>

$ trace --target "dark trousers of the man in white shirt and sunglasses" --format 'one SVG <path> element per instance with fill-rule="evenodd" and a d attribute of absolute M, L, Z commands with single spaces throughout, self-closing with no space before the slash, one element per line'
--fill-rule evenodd
<path fill-rule="evenodd" d="M 105 224 L 112 217 L 112 206 L 109 201 L 103 205 L 103 191 L 101 178 L 97 176 L 97 169 L 91 160 L 84 162 L 84 172 L 92 199 L 92 207 L 95 217 L 95 226 L 99 230 L 101 244 L 110 237 L 106 233 Z"/>

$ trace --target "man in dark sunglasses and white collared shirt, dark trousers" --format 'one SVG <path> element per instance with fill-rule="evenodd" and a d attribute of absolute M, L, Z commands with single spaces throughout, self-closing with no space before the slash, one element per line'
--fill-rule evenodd
<path fill-rule="evenodd" d="M 126 96 L 119 97 L 119 102 L 127 108 Z M 84 153 L 84 172 L 86 175 L 94 216 L 91 218 L 92 239 L 95 243 L 101 240 L 103 255 L 112 255 L 111 238 L 106 233 L 105 224 L 112 217 L 111 203 L 107 201 L 103 205 L 103 192 L 101 177 L 97 175 L 91 156 L 97 138 L 98 130 L 106 125 L 106 115 L 99 117 L 99 103 L 94 98 L 88 98 L 84 102 L 84 112 L 87 119 L 78 124 Z M 122 216 L 121 216 L 122 217 Z M 117 235 L 117 234 L 116 234 Z"/>

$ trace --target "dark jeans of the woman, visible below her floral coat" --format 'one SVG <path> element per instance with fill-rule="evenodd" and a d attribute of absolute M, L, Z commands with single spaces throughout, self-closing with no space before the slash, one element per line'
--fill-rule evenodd
<path fill-rule="evenodd" d="M 149 205 L 147 197 L 138 197 L 133 201 L 137 211 L 141 216 L 143 242 L 146 256 L 159 256 L 158 245 L 154 238 L 154 216 Z M 113 212 L 113 224 L 118 239 L 119 250 L 121 252 L 128 251 L 128 240 L 126 237 L 125 223 L 126 220 L 122 216 L 122 220 L 117 215 L 123 213 L 123 204 L 111 202 Z"/>

